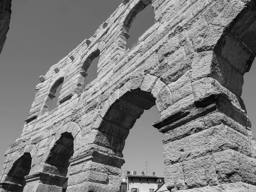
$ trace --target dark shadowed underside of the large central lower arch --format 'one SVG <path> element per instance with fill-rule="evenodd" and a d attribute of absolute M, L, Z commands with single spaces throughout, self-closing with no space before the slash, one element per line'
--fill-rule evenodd
<path fill-rule="evenodd" d="M 99 131 L 108 140 L 111 148 L 118 157 L 123 157 L 125 140 L 134 123 L 143 114 L 155 105 L 155 98 L 151 93 L 139 89 L 131 90 L 118 99 L 103 117 Z M 111 130 L 110 130 L 111 128 Z"/>

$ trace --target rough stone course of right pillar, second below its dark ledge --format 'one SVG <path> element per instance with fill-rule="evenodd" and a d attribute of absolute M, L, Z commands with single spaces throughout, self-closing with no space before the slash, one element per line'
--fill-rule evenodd
<path fill-rule="evenodd" d="M 193 143 L 193 145 L 187 145 Z M 202 157 L 218 151 L 233 149 L 242 154 L 252 156 L 255 154 L 251 148 L 250 139 L 243 134 L 224 125 L 217 125 L 200 131 L 180 140 L 165 144 L 164 162 L 166 165 L 180 163 Z"/>

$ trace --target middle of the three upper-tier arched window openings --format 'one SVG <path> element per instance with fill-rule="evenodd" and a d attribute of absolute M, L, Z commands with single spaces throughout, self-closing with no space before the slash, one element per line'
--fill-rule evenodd
<path fill-rule="evenodd" d="M 87 84 L 89 84 L 90 82 L 92 82 L 94 79 L 97 78 L 99 55 L 100 55 L 100 51 L 99 49 L 96 49 L 84 61 L 84 64 L 82 65 L 82 69 L 84 70 L 84 73 L 81 73 L 82 76 L 84 77 L 83 87 L 85 87 Z"/>

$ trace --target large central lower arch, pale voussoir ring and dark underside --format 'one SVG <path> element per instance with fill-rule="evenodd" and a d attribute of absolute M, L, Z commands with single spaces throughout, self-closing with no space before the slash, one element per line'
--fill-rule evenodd
<path fill-rule="evenodd" d="M 161 111 L 162 106 L 169 105 L 168 99 L 161 100 L 163 97 L 157 94 L 161 91 L 159 87 L 155 87 L 159 81 L 160 79 L 151 75 L 130 79 L 110 96 L 111 99 L 105 102 L 99 115 L 97 130 L 105 137 L 104 141 L 98 136 L 101 138 L 99 145 L 103 144 L 104 147 L 113 150 L 117 157 L 123 157 L 122 150 L 129 130 L 144 110 L 157 105 Z M 161 88 L 165 87 L 163 85 Z M 116 96 L 116 93 L 119 93 L 119 96 Z M 166 98 L 170 98 L 170 94 L 166 94 Z"/>

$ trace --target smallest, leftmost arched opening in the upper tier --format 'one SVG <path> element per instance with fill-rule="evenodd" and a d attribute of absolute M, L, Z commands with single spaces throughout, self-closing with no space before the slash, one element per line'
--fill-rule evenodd
<path fill-rule="evenodd" d="M 58 97 L 61 93 L 61 87 L 63 85 L 64 78 L 61 77 L 52 85 L 50 93 L 48 94 L 47 101 L 45 102 L 44 108 L 46 111 L 52 111 L 56 106 L 58 106 Z"/>

